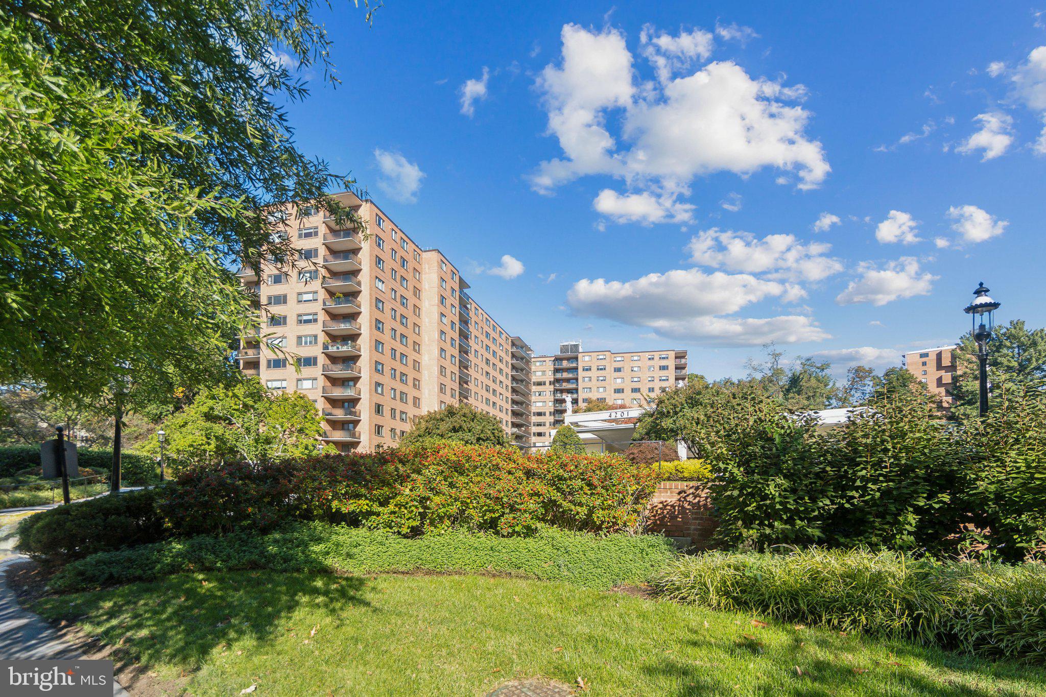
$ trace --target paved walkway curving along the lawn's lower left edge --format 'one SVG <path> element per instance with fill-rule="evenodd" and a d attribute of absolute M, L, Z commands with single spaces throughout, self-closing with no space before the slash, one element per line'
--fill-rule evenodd
<path fill-rule="evenodd" d="M 7 567 L 26 559 L 24 555 L 15 554 L 15 542 L 13 535 L 0 536 L 0 658 L 85 657 L 78 647 L 61 636 L 38 614 L 19 605 L 15 591 L 7 586 Z M 114 680 L 113 695 L 124 697 L 129 693 Z"/>

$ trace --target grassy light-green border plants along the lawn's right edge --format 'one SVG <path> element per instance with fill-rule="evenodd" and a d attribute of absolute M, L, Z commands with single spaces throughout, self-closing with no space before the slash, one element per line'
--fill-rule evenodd
<path fill-rule="evenodd" d="M 662 598 L 841 631 L 906 636 L 995 656 L 1046 655 L 1046 565 L 794 550 L 678 557 L 652 581 Z"/>

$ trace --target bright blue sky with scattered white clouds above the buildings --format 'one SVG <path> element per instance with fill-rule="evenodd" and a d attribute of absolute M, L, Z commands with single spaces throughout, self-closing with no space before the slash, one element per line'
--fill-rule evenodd
<path fill-rule="evenodd" d="M 981 280 L 1046 324 L 1046 5 L 347 4 L 299 145 L 539 351 L 882 369 Z"/>

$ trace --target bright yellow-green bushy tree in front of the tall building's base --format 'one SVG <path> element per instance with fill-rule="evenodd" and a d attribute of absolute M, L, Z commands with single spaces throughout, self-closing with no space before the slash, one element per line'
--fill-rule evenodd
<path fill-rule="evenodd" d="M 205 388 L 163 421 L 166 454 L 177 462 L 262 462 L 319 451 L 323 421 L 300 392 L 268 392 L 256 377 L 229 388 Z M 159 454 L 154 435 L 142 447 Z M 331 445 L 326 451 L 335 451 Z"/>

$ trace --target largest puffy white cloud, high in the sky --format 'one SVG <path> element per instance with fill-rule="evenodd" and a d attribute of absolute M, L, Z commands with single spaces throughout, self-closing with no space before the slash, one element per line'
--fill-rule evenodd
<path fill-rule="evenodd" d="M 831 170 L 821 144 L 805 135 L 810 113 L 783 103 L 801 97 L 802 89 L 753 79 L 734 63 L 714 62 L 688 76 L 642 84 L 640 95 L 620 31 L 567 24 L 562 40 L 561 64 L 546 66 L 537 88 L 548 112 L 548 134 L 559 139 L 564 157 L 538 166 L 530 181 L 539 191 L 587 175 L 610 175 L 632 188 L 688 193 L 696 177 L 748 176 L 765 167 L 795 172 L 799 188 L 809 189 Z M 647 36 L 642 50 L 652 46 Z M 691 40 L 685 49 L 666 46 L 677 51 L 674 60 L 679 51 L 700 55 Z M 659 46 L 657 55 L 664 57 L 664 50 Z M 622 149 L 608 129 L 611 112 L 620 114 L 620 138 L 628 144 Z"/>

